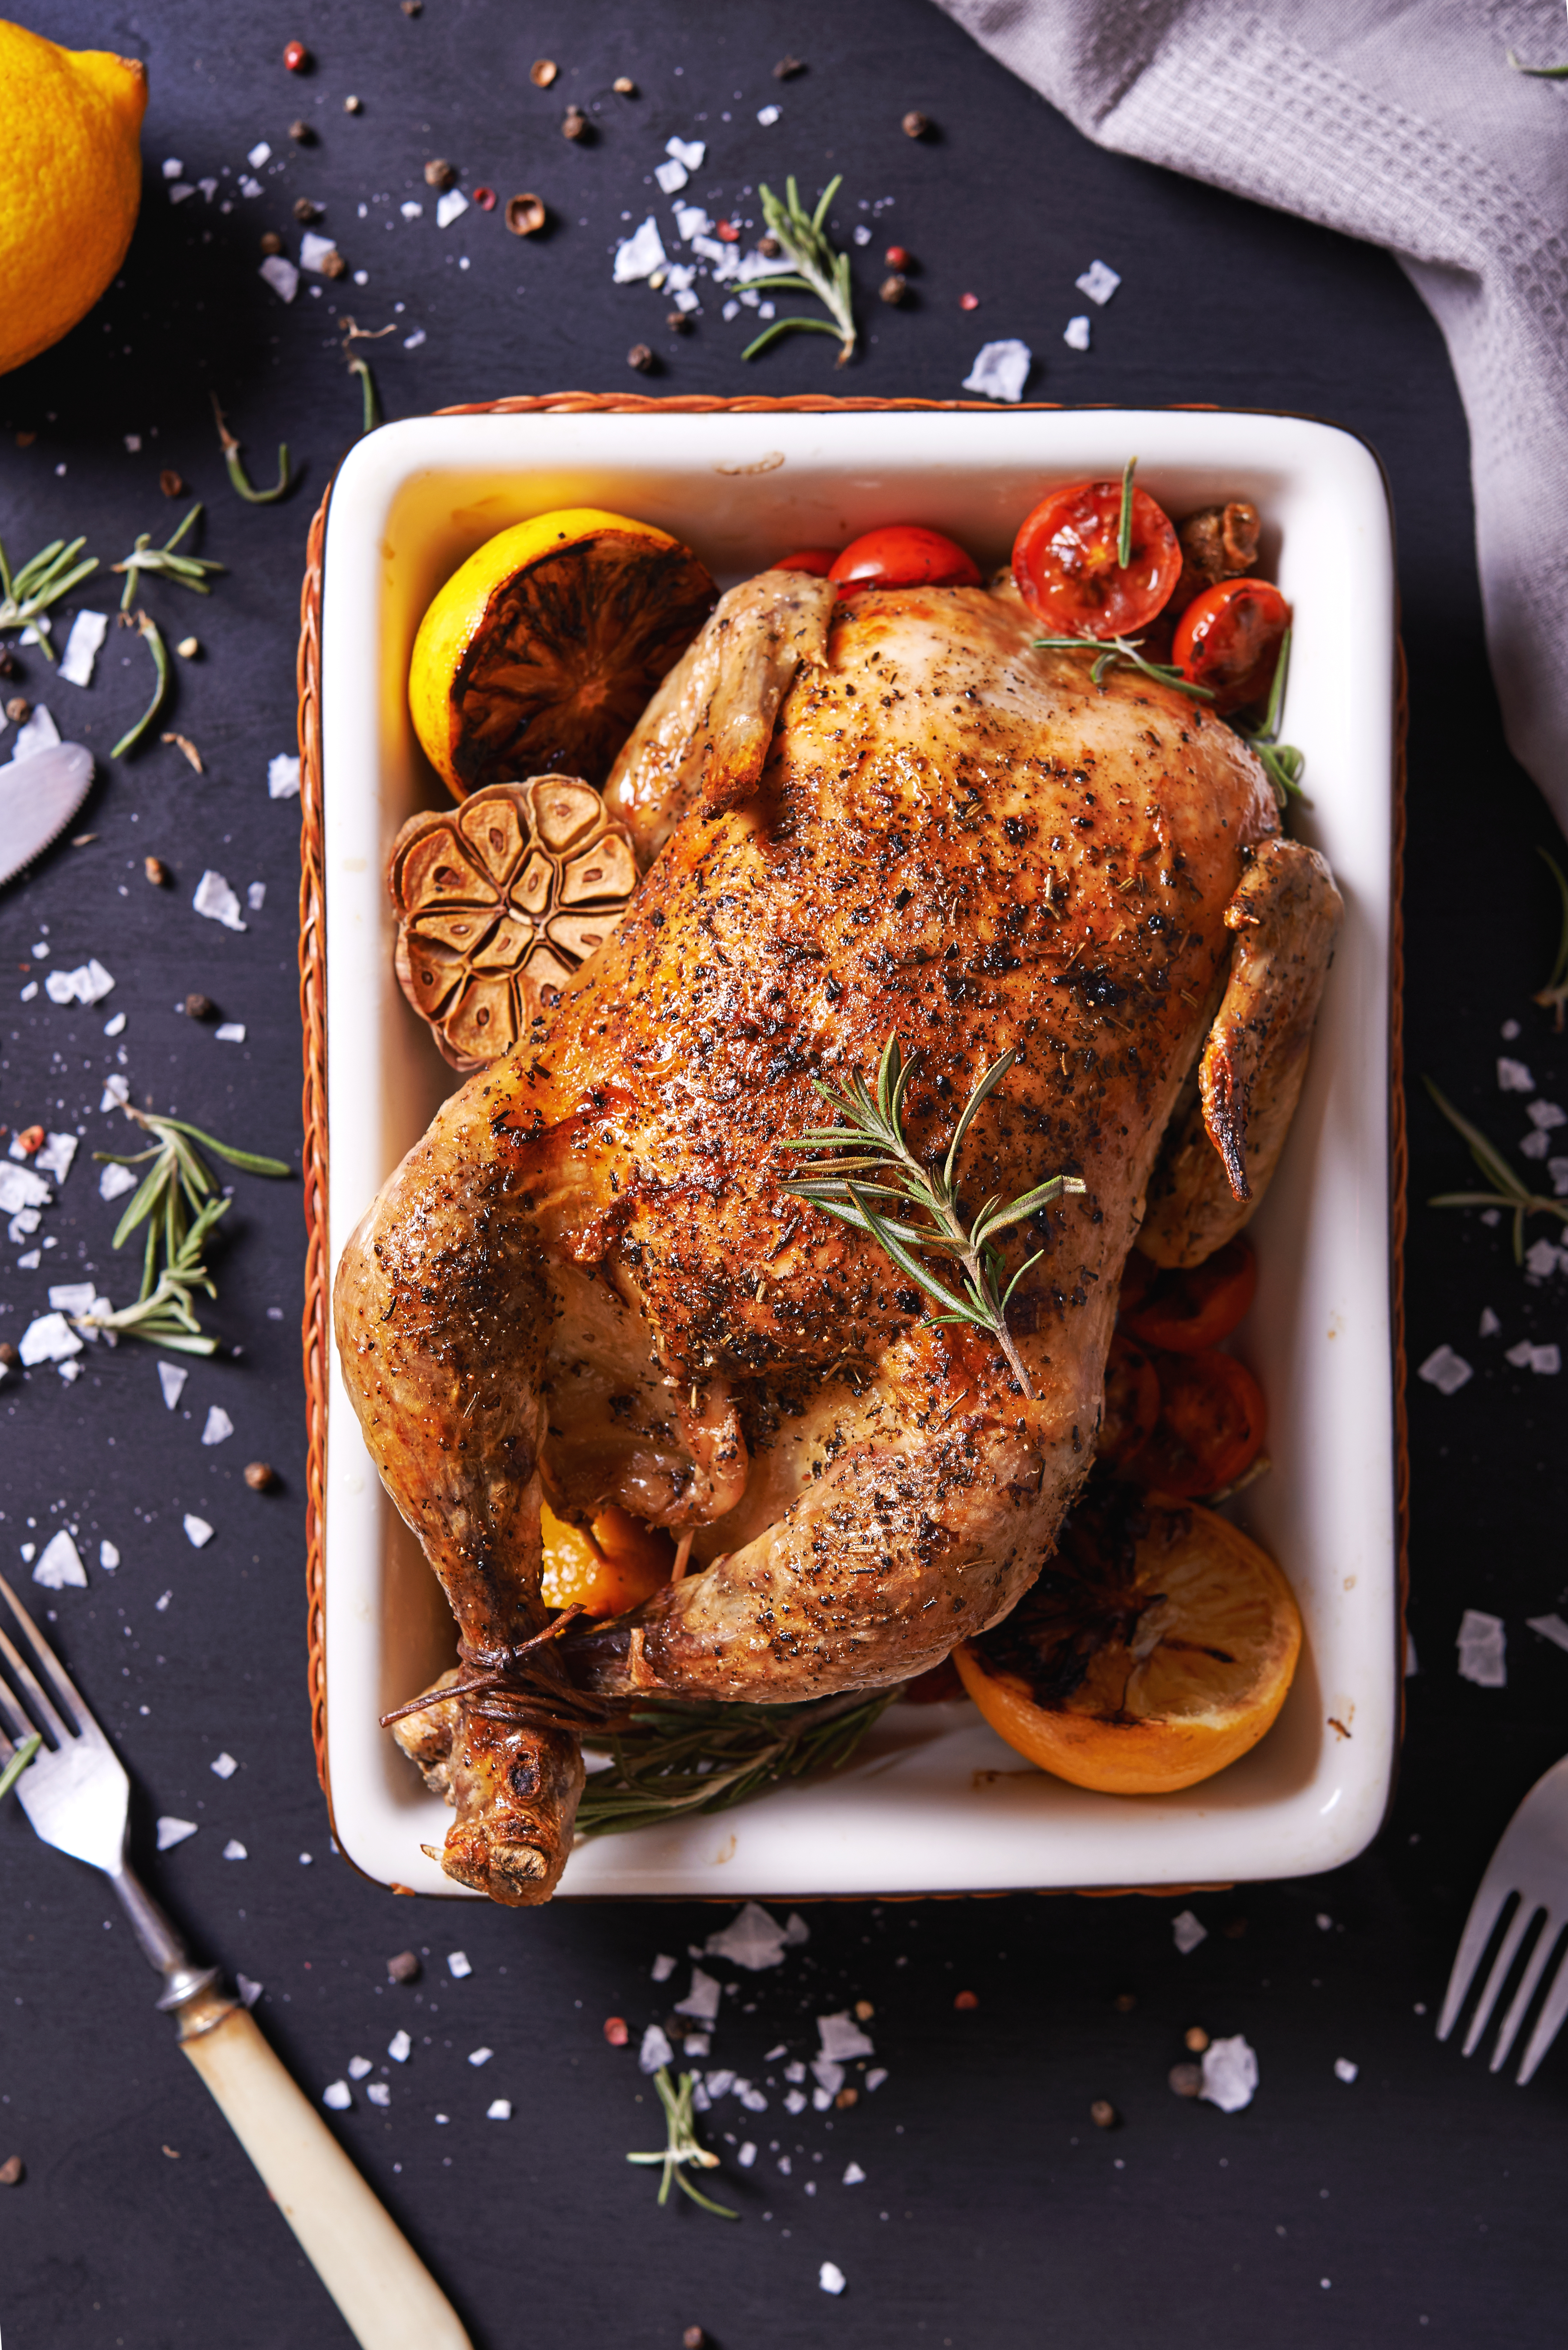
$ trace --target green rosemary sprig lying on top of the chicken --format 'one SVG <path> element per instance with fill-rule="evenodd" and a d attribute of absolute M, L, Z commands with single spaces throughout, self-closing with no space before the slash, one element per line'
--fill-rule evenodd
<path fill-rule="evenodd" d="M 800 1182 L 786 1182 L 784 1189 L 793 1191 L 796 1198 L 807 1198 L 824 1215 L 838 1217 L 840 1224 L 869 1231 L 899 1271 L 918 1281 L 925 1295 L 934 1297 L 944 1309 L 930 1316 L 932 1323 L 972 1323 L 976 1330 L 988 1330 L 1007 1356 L 1014 1379 L 1033 1401 L 1035 1389 L 1028 1382 L 1023 1358 L 1007 1328 L 1007 1304 L 1023 1274 L 1030 1264 L 1040 1262 L 1045 1250 L 1038 1248 L 1033 1257 L 1026 1257 L 1007 1288 L 1002 1288 L 1007 1264 L 1002 1250 L 995 1246 L 995 1236 L 1007 1231 L 1009 1224 L 1021 1224 L 1026 1217 L 1038 1215 L 1040 1208 L 1049 1208 L 1063 1191 L 1084 1191 L 1087 1187 L 1077 1175 L 1052 1175 L 1014 1201 L 1002 1201 L 1000 1194 L 993 1194 L 979 1215 L 965 1222 L 955 1184 L 965 1135 L 974 1126 L 981 1102 L 995 1093 L 1016 1058 L 1016 1050 L 1002 1053 L 976 1083 L 953 1128 L 948 1156 L 939 1175 L 932 1175 L 915 1159 L 904 1135 L 904 1095 L 908 1093 L 915 1065 L 913 1060 L 904 1060 L 897 1036 L 890 1036 L 883 1046 L 876 1095 L 859 1072 L 850 1076 L 843 1093 L 812 1079 L 815 1090 L 838 1109 L 845 1123 L 789 1135 L 779 1147 L 786 1152 L 826 1152 L 829 1156 L 807 1168 Z M 850 1156 L 840 1156 L 843 1152 Z M 899 1215 L 913 1208 L 918 1222 L 892 1222 L 883 1208 L 873 1206 L 876 1201 L 897 1203 Z M 915 1250 L 922 1255 L 937 1250 L 948 1257 L 962 1274 L 958 1292 L 946 1281 L 937 1281 L 920 1264 Z"/>

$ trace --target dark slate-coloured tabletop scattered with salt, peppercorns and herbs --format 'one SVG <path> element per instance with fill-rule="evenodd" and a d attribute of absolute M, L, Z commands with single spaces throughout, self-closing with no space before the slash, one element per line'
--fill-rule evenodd
<path fill-rule="evenodd" d="M 1535 855 L 1554 827 L 1502 747 L 1444 345 L 1387 256 L 1099 155 L 922 0 L 859 0 L 807 24 L 768 0 L 425 0 L 418 16 L 397 0 L 59 0 L 28 19 L 66 45 L 146 56 L 153 101 L 146 209 L 122 282 L 63 345 L 0 381 L 0 531 L 12 555 L 87 531 L 113 562 L 136 531 L 164 536 L 183 512 L 157 489 L 174 465 L 207 501 L 204 550 L 228 573 L 209 602 L 148 590 L 169 637 L 202 637 L 164 724 L 197 740 L 207 776 L 171 747 L 103 757 L 80 818 L 92 846 L 52 851 L 0 895 L 12 973 L 0 1116 L 85 1137 L 45 1217 L 59 1238 L 45 1269 L 16 1271 L 16 1250 L 5 1255 L 0 1332 L 21 1332 L 49 1278 L 92 1269 L 115 1295 L 131 1288 L 87 1159 L 124 1140 L 96 1107 L 115 1067 L 101 1036 L 110 1013 L 129 1015 L 138 1100 L 242 1144 L 298 1149 L 298 804 L 268 799 L 265 768 L 293 740 L 305 524 L 359 418 L 338 308 L 366 327 L 397 320 L 399 334 L 373 345 L 392 416 L 502 392 L 641 388 L 624 355 L 643 338 L 660 355 L 655 388 L 671 392 L 951 397 L 984 338 L 1021 334 L 1038 352 L 1035 397 L 1286 407 L 1368 435 L 1394 489 L 1413 686 L 1408 1065 L 1509 1147 L 1523 1119 L 1495 1088 L 1502 1022 L 1521 1022 L 1512 1050 L 1542 1090 L 1568 1090 L 1568 1041 L 1528 1001 L 1556 938 Z M 317 54 L 312 78 L 282 70 L 289 38 Z M 779 87 L 770 68 L 786 49 L 810 70 Z M 561 61 L 549 94 L 528 82 L 533 56 Z M 636 101 L 610 96 L 617 73 L 636 78 Z M 350 89 L 364 99 L 354 120 Z M 566 101 L 587 108 L 592 143 L 561 139 Z M 758 129 L 768 101 L 784 120 Z M 899 132 L 911 106 L 934 118 L 927 143 Z M 300 113 L 319 125 L 307 150 L 286 136 Z M 709 310 L 676 341 L 660 296 L 613 287 L 622 214 L 643 216 L 671 132 L 709 141 L 692 195 L 716 214 L 753 214 L 742 190 L 786 169 L 807 190 L 845 174 L 840 235 L 861 200 L 892 197 L 857 256 L 869 343 L 852 371 L 836 376 L 831 345 L 807 336 L 742 367 L 742 322 Z M 228 167 L 232 195 L 263 136 L 282 160 L 263 172 L 263 197 L 228 214 L 200 195 L 169 204 L 164 157 L 190 181 Z M 469 190 L 545 193 L 554 235 L 519 244 L 500 212 L 479 209 L 439 233 L 423 164 L 441 153 Z M 279 228 L 293 242 L 298 193 L 326 204 L 322 226 L 369 268 L 369 287 L 303 289 L 293 308 L 265 289 L 258 235 Z M 390 202 L 361 223 L 371 195 Z M 397 219 L 406 195 L 425 200 L 423 221 Z M 920 258 L 918 301 L 901 313 L 876 303 L 887 237 Z M 1122 291 L 1094 313 L 1094 350 L 1080 357 L 1061 327 L 1082 308 L 1073 277 L 1096 254 Z M 958 308 L 962 291 L 979 294 L 976 313 Z M 406 350 L 418 327 L 425 341 Z M 270 479 L 270 454 L 289 439 L 303 482 L 286 503 L 232 496 L 209 390 L 256 477 Z M 143 437 L 141 454 L 124 449 L 127 432 Z M 92 599 L 108 597 L 103 583 Z M 120 637 L 87 693 L 49 686 L 35 653 L 23 663 L 23 689 L 103 752 L 148 689 L 143 649 Z M 174 867 L 169 893 L 143 881 L 148 851 Z M 190 912 L 207 865 L 239 891 L 268 884 L 244 935 Z M 16 1001 L 45 938 L 54 968 L 87 954 L 108 964 L 108 1003 Z M 174 1013 L 188 989 L 244 1020 L 244 1048 Z M 636 2035 L 683 1988 L 660 1993 L 650 1960 L 681 1955 L 714 1911 L 408 1904 L 331 1854 L 305 1711 L 298 1184 L 239 1182 L 216 1323 L 242 1354 L 192 1368 L 190 1410 L 164 1410 L 153 1356 L 134 1344 L 89 1356 L 75 1386 L 52 1370 L 5 1382 L 0 1556 L 26 1574 L 16 1546 L 33 1520 L 38 1539 L 80 1528 L 92 1586 L 59 1596 L 56 1631 L 134 1772 L 138 1852 L 155 1814 L 200 1824 L 150 1875 L 202 1950 L 265 1983 L 258 2016 L 310 2096 L 352 2054 L 380 2061 L 399 2023 L 413 2033 L 390 2113 L 357 2094 L 333 2129 L 479 2345 L 657 2350 L 688 2324 L 723 2350 L 1084 2338 L 1474 2350 L 1561 2336 L 1568 2047 L 1523 2094 L 1432 2037 L 1483 1859 L 1561 1748 L 1568 1657 L 1523 1624 L 1563 1603 L 1561 1384 L 1502 1363 L 1521 1335 L 1559 1337 L 1561 1314 L 1554 1288 L 1512 1267 L 1505 1234 L 1422 1206 L 1465 1180 L 1465 1161 L 1422 1095 L 1411 1121 L 1411 1361 L 1446 1340 L 1476 1377 L 1451 1401 L 1413 1382 L 1420 1673 L 1380 1840 L 1333 1878 L 1199 1896 L 1209 1939 L 1190 1958 L 1171 1943 L 1178 1899 L 812 1908 L 810 1946 L 744 1979 L 716 2061 L 761 2077 L 777 2040 L 810 2040 L 812 2014 L 869 1998 L 890 2080 L 831 2127 L 817 2115 L 789 2124 L 777 2094 L 768 2115 L 746 2115 L 763 2153 L 749 2174 L 730 2167 L 735 2228 L 655 2209 L 648 2174 L 622 2160 L 657 2143 Z M 1476 1340 L 1483 1307 L 1505 1325 L 1491 1342 Z M 202 1450 L 214 1401 L 237 1434 Z M 279 1492 L 244 1488 L 256 1457 L 279 1469 Z M 218 1530 L 202 1553 L 181 1537 L 185 1509 Z M 113 1579 L 96 1565 L 103 1535 L 122 1553 Z M 1467 1605 L 1507 1617 L 1507 1690 L 1455 1676 Z M 242 1765 L 228 1781 L 207 1767 L 221 1748 Z M 0 2157 L 21 2153 L 28 2167 L 0 2193 L 7 2350 L 347 2341 L 153 2014 L 153 1981 L 103 1889 L 38 1849 L 16 1805 L 5 1812 Z M 228 1835 L 249 1861 L 221 1859 Z M 430 1953 L 415 1990 L 385 1981 L 387 1953 L 406 1943 Z M 453 1946 L 472 1958 L 467 1981 L 448 1979 Z M 979 2007 L 955 2012 L 958 1990 Z M 1136 2005 L 1117 2007 L 1117 1993 Z M 631 2049 L 606 2047 L 608 2014 L 631 2021 Z M 1169 2094 L 1190 2023 L 1242 2030 L 1258 2049 L 1263 2087 L 1246 2113 Z M 465 2063 L 477 2044 L 495 2049 L 481 2073 Z M 1359 2063 L 1354 2087 L 1336 2080 L 1336 2056 Z M 498 2094 L 514 2101 L 507 2127 L 484 2120 Z M 1115 2134 L 1089 2124 L 1096 2096 L 1120 2108 Z M 721 2131 L 735 2120 L 732 2103 L 714 2117 Z M 789 2178 L 775 2138 L 793 2155 Z M 840 2186 L 850 2160 L 864 2186 Z M 817 2289 L 824 2258 L 850 2280 L 840 2301 Z"/>

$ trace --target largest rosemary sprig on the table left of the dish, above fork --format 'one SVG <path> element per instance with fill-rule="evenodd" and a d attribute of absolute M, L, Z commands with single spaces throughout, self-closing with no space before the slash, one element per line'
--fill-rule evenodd
<path fill-rule="evenodd" d="M 124 1332 L 127 1337 L 150 1340 L 157 1347 L 174 1347 L 181 1354 L 211 1354 L 216 1340 L 202 1330 L 192 1295 L 197 1290 L 207 1297 L 218 1295 L 211 1274 L 202 1264 L 202 1246 L 230 1203 L 218 1196 L 211 1170 L 195 1144 L 200 1142 L 204 1149 L 216 1152 L 218 1159 L 242 1168 L 246 1175 L 286 1175 L 289 1168 L 282 1159 L 237 1152 L 230 1142 L 218 1142 L 183 1119 L 160 1119 L 153 1112 L 131 1107 L 131 1102 L 124 1104 L 124 1114 L 143 1133 L 153 1135 L 150 1147 L 134 1154 L 94 1152 L 94 1159 L 122 1168 L 138 1168 L 150 1161 L 110 1243 L 113 1248 L 122 1248 L 136 1227 L 146 1224 L 141 1292 L 136 1304 L 117 1307 L 110 1314 L 77 1316 L 77 1328 L 85 1330 L 92 1325 L 94 1330 L 115 1335 Z M 162 1267 L 157 1262 L 160 1250 L 164 1257 Z"/>

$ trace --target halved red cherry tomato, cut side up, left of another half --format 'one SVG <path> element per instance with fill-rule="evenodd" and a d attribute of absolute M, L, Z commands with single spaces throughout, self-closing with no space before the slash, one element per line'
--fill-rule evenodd
<path fill-rule="evenodd" d="M 1181 540 L 1148 491 L 1131 494 L 1131 562 L 1117 562 L 1120 482 L 1054 489 L 1012 543 L 1019 595 L 1054 637 L 1129 637 L 1169 602 Z"/>

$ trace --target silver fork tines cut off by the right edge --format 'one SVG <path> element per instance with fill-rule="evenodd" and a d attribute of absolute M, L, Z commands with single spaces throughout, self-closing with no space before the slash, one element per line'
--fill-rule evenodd
<path fill-rule="evenodd" d="M 1547 1960 L 1552 1958 L 1556 1939 L 1568 1922 L 1568 1755 L 1561 1762 L 1554 1762 L 1552 1770 L 1535 1781 L 1502 1831 L 1502 1842 L 1491 1856 L 1491 1866 L 1481 1878 L 1476 1899 L 1469 1904 L 1465 1934 L 1460 1939 L 1458 1958 L 1453 1960 L 1453 1974 L 1448 1976 L 1448 1998 L 1444 2000 L 1444 2012 L 1437 2021 L 1439 2040 L 1446 2040 L 1458 2023 L 1469 1986 L 1498 1929 L 1498 1920 L 1514 1894 L 1519 1896 L 1519 1908 L 1509 1918 L 1498 1955 L 1493 1958 L 1491 1974 L 1481 1988 L 1476 2012 L 1469 2019 L 1469 2030 L 1465 2033 L 1465 2056 L 1469 2056 L 1491 2023 L 1493 2007 L 1498 2005 L 1509 1969 L 1523 1948 L 1530 1922 L 1540 1915 L 1540 1934 L 1535 1936 L 1519 1988 L 1498 2028 L 1498 2047 L 1493 2049 L 1491 2061 L 1493 2073 L 1500 2073 L 1507 2063 L 1507 2054 L 1519 2037 L 1526 2009 L 1540 1988 Z M 1563 1960 L 1559 1960 L 1547 1998 L 1542 2000 L 1540 2016 L 1535 2019 L 1535 2030 L 1530 2033 L 1519 2073 L 1514 2075 L 1521 2089 L 1533 2077 L 1542 2056 L 1563 2028 L 1563 2016 L 1568 2016 L 1568 1950 L 1563 1953 Z"/>

